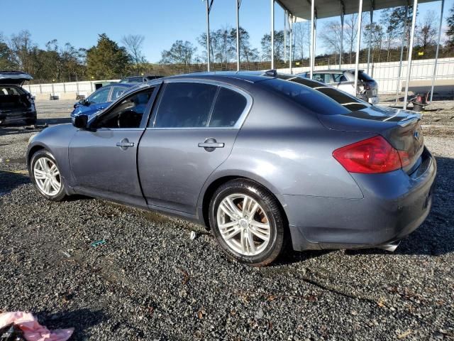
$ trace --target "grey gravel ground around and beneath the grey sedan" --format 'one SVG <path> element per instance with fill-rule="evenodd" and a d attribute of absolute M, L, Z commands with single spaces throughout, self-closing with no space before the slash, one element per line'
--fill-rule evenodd
<path fill-rule="evenodd" d="M 65 121 L 70 104 L 38 103 L 38 124 Z M 182 220 L 44 200 L 22 172 L 34 131 L 0 129 L 0 310 L 74 327 L 71 340 L 454 339 L 453 136 L 426 134 L 433 210 L 397 251 L 292 252 L 254 269 Z"/>

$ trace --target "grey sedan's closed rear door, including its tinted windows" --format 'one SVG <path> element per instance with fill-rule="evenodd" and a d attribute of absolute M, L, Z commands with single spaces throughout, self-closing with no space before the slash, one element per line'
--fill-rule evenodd
<path fill-rule="evenodd" d="M 251 105 L 233 87 L 167 82 L 138 150 L 148 205 L 194 215 L 202 186 L 228 158 Z"/>

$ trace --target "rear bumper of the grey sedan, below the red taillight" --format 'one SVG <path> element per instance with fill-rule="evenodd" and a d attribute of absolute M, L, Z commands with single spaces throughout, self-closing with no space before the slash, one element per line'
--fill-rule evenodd
<path fill-rule="evenodd" d="M 284 195 L 294 249 L 380 247 L 406 237 L 431 210 L 436 161 L 427 150 L 424 157 L 411 175 L 353 174 L 362 199 Z"/>

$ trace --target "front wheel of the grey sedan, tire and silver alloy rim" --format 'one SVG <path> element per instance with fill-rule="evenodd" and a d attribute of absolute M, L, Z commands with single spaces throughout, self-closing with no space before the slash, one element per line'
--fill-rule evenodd
<path fill-rule="evenodd" d="M 62 177 L 60 175 L 60 169 L 57 166 L 57 162 L 55 161 L 54 156 L 52 156 L 49 151 L 40 149 L 39 151 L 34 153 L 31 158 L 30 165 L 30 178 L 40 195 L 43 195 L 43 197 L 52 201 L 62 201 L 65 199 L 65 197 L 67 197 L 65 192 L 65 184 L 63 183 Z M 45 169 L 46 166 L 49 173 Z M 55 174 L 55 168 L 52 168 L 52 166 L 55 166 L 58 175 L 51 175 L 51 172 L 52 174 Z M 52 171 L 52 169 L 54 169 L 54 171 Z M 50 181 L 50 178 L 52 178 L 52 181 Z M 46 179 L 48 179 L 49 181 Z M 55 181 L 60 184 L 60 186 L 57 186 L 57 183 Z M 47 193 L 45 190 L 47 188 L 46 183 L 49 183 L 50 189 Z"/>

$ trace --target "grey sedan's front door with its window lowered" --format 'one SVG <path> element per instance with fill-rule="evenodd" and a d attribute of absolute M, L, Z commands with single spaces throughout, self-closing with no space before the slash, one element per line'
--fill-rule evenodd
<path fill-rule="evenodd" d="M 74 187 L 133 205 L 145 205 L 137 173 L 137 148 L 155 88 L 135 92 L 79 130 L 70 143 Z"/>

